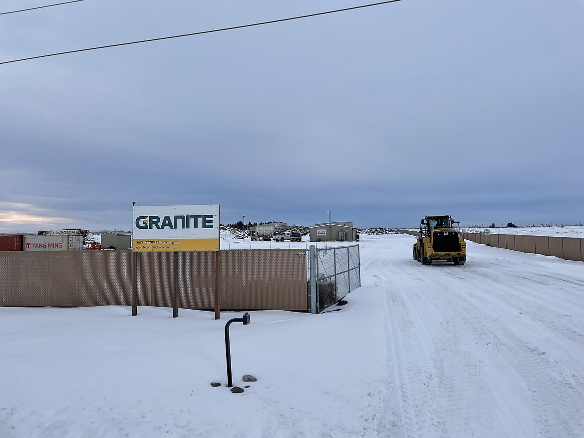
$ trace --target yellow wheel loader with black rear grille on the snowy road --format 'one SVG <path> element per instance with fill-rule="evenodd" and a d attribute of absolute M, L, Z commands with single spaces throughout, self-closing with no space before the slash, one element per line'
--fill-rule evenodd
<path fill-rule="evenodd" d="M 423 218 L 420 234 L 413 245 L 413 259 L 422 265 L 432 265 L 433 260 L 464 265 L 467 244 L 460 235 L 460 223 L 454 222 L 450 215 Z"/>

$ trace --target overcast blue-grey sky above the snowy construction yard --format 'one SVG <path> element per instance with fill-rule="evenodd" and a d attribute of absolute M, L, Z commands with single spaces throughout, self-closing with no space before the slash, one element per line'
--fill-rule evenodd
<path fill-rule="evenodd" d="M 85 0 L 0 15 L 0 62 L 362 4 Z M 133 201 L 579 224 L 584 2 L 403 0 L 4 64 L 0 148 L 0 232 L 130 230 Z"/>

